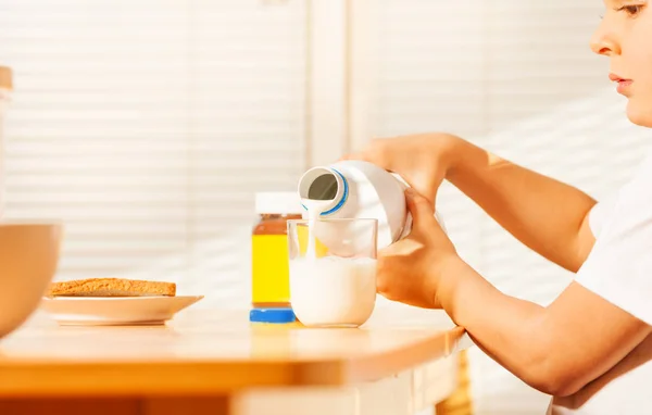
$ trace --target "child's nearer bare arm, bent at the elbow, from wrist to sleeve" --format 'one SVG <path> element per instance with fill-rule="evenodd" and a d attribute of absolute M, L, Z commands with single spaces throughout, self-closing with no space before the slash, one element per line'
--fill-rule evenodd
<path fill-rule="evenodd" d="M 438 301 L 492 359 L 531 387 L 573 394 L 651 334 L 649 325 L 573 282 L 542 307 L 501 293 L 461 260 Z"/>

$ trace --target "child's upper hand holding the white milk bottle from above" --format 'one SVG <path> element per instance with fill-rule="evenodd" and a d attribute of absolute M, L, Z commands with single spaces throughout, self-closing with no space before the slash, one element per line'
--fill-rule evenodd
<path fill-rule="evenodd" d="M 397 173 L 435 204 L 437 190 L 452 166 L 455 143 L 461 140 L 439 133 L 375 139 L 344 160 L 366 161 Z"/>

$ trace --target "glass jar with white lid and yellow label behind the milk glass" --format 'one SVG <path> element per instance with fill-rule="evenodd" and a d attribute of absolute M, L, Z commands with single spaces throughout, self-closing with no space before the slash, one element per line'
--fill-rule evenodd
<path fill-rule="evenodd" d="M 253 309 L 290 307 L 288 227 L 301 218 L 297 192 L 256 193 L 258 221 L 251 236 L 251 303 Z"/>

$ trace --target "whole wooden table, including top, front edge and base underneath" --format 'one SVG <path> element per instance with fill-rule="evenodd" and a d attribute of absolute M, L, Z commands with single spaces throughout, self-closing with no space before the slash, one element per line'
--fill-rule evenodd
<path fill-rule="evenodd" d="M 0 340 L 0 414 L 412 415 L 450 395 L 464 331 L 440 314 L 378 314 L 361 329 L 251 325 L 224 310 L 162 327 L 36 317 Z"/>

